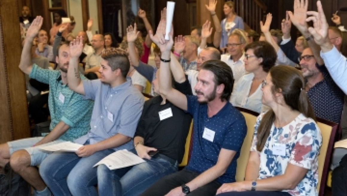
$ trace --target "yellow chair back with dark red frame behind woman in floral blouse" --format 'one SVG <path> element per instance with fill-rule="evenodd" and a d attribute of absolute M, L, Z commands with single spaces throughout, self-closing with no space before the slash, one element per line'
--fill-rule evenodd
<path fill-rule="evenodd" d="M 325 185 L 327 184 L 330 159 L 338 124 L 323 119 L 317 119 L 317 124 L 322 134 L 322 146 L 320 154 L 318 155 L 317 191 L 319 196 L 323 196 Z"/>

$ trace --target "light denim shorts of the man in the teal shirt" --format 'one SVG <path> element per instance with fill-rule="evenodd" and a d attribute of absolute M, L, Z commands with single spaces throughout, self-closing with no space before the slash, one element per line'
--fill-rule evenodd
<path fill-rule="evenodd" d="M 45 151 L 39 149 L 37 146 L 33 147 L 37 142 L 39 142 L 43 137 L 34 137 L 34 138 L 25 138 L 25 139 L 19 139 L 15 141 L 9 141 L 7 142 L 7 145 L 10 150 L 10 154 L 14 153 L 17 150 L 26 150 L 30 155 L 31 166 L 40 165 L 41 162 L 52 152 Z M 42 144 L 40 146 L 49 146 L 52 144 L 58 144 L 60 142 L 64 142 L 64 140 L 54 140 L 51 142 L 48 142 L 46 144 Z"/>

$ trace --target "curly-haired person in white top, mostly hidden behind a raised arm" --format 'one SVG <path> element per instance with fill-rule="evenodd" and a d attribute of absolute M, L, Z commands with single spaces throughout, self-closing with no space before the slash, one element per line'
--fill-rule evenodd
<path fill-rule="evenodd" d="M 129 53 L 130 50 L 132 50 L 131 52 L 137 55 L 137 58 L 140 58 L 143 55 L 143 43 L 141 41 L 141 38 L 136 34 L 132 34 L 133 36 L 130 35 L 131 37 L 128 37 L 129 35 L 127 34 L 127 36 L 123 39 L 122 43 L 120 43 L 120 48 L 128 51 Z M 140 73 L 136 71 L 136 69 L 133 66 L 133 61 L 130 57 L 129 61 L 130 69 L 128 72 L 128 77 L 132 78 L 134 87 L 138 89 L 140 92 L 142 92 L 143 89 L 146 88 L 147 80 L 144 76 L 142 76 Z"/>

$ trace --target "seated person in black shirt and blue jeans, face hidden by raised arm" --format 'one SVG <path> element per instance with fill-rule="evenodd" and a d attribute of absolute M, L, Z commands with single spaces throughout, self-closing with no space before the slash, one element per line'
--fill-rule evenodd
<path fill-rule="evenodd" d="M 160 95 L 159 81 L 158 70 L 153 80 L 153 88 L 154 92 Z M 192 94 L 188 81 L 177 89 L 184 94 Z M 161 116 L 161 111 L 168 110 L 170 116 Z M 137 196 L 160 178 L 176 172 L 177 164 L 184 155 L 191 121 L 191 115 L 162 95 L 146 101 L 134 135 L 135 149 L 130 151 L 144 158 L 145 162 L 116 170 L 109 170 L 104 164 L 99 165 L 99 195 Z M 149 155 L 153 152 L 156 154 Z"/>

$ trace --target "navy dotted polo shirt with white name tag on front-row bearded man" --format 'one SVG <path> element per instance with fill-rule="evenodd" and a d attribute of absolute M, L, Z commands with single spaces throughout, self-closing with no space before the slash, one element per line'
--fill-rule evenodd
<path fill-rule="evenodd" d="M 186 96 L 187 112 L 194 123 L 192 156 L 186 169 L 202 173 L 217 163 L 221 148 L 234 150 L 236 154 L 226 172 L 216 180 L 235 182 L 236 160 L 247 133 L 244 116 L 228 101 L 217 114 L 208 117 L 207 104 L 198 103 L 196 96 Z"/>

